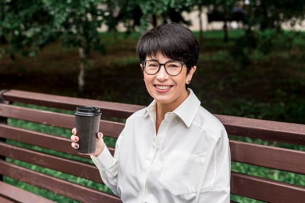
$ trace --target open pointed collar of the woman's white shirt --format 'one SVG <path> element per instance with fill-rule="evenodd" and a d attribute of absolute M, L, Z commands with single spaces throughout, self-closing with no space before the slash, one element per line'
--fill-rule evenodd
<path fill-rule="evenodd" d="M 194 92 L 188 88 L 189 96 L 184 100 L 174 111 L 177 116 L 181 118 L 181 120 L 185 123 L 187 127 L 191 126 L 191 122 L 193 121 L 199 107 L 200 101 L 194 94 Z M 148 116 L 149 113 L 155 112 L 155 103 L 153 100 L 152 103 L 146 108 L 143 116 Z"/>

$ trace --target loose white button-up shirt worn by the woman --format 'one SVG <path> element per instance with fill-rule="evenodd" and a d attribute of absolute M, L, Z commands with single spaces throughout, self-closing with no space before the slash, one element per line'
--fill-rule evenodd
<path fill-rule="evenodd" d="M 229 203 L 230 150 L 221 122 L 195 94 L 156 133 L 155 101 L 135 112 L 115 145 L 92 159 L 124 203 Z"/>

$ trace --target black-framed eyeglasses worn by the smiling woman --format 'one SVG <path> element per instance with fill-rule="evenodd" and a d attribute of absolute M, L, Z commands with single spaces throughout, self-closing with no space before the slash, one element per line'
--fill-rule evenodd
<path fill-rule="evenodd" d="M 156 74 L 164 66 L 166 73 L 175 76 L 181 73 L 182 67 L 185 63 L 180 61 L 168 61 L 166 63 L 159 63 L 156 60 L 145 60 L 142 61 L 143 69 L 147 74 Z"/>

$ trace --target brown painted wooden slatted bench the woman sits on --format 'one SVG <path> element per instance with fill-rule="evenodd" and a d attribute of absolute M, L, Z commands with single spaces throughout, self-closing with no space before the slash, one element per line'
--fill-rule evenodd
<path fill-rule="evenodd" d="M 77 154 L 70 147 L 71 129 L 75 126 L 73 111 L 77 106 L 100 107 L 103 113 L 100 131 L 104 133 L 105 139 L 110 137 L 115 142 L 124 127 L 124 119 L 143 106 L 18 90 L 1 91 L 0 96 L 0 203 L 53 203 L 47 199 L 46 191 L 82 203 L 121 203 L 118 197 L 100 189 L 103 182 L 90 159 Z M 33 105 L 36 105 L 35 108 Z M 302 148 L 305 145 L 305 125 L 215 116 L 224 124 L 228 134 L 236 138 L 230 139 L 232 163 L 288 171 L 304 183 L 304 150 L 236 140 L 248 137 L 245 140 L 262 139 L 269 144 L 289 143 Z M 26 121 L 27 125 L 20 128 L 12 125 L 13 121 Z M 41 124 L 40 129 L 58 127 L 67 133 L 59 136 L 53 129 L 50 132 L 33 130 L 33 123 Z M 114 148 L 109 148 L 113 153 Z M 40 171 L 36 168 L 42 169 Z M 250 171 L 239 172 L 237 169 L 231 172 L 233 195 L 268 203 L 301 203 L 305 200 L 305 186 L 302 184 L 271 180 L 251 175 Z M 53 173 L 49 174 L 45 170 Z M 68 178 L 63 178 L 66 175 Z M 76 179 L 88 182 L 83 185 Z M 8 185 L 10 180 L 18 181 L 16 185 L 34 185 L 34 188 L 42 188 L 42 192 L 37 195 L 33 194 L 32 189 L 25 191 L 14 184 Z M 92 183 L 100 187 L 94 188 Z"/>

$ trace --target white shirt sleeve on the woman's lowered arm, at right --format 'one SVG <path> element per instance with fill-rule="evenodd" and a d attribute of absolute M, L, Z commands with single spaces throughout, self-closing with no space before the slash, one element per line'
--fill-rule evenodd
<path fill-rule="evenodd" d="M 210 187 L 201 188 L 198 203 L 229 203 L 230 202 L 230 174 L 231 157 L 229 138 L 226 130 L 221 131 L 210 165 L 213 166 L 213 179 Z"/>

